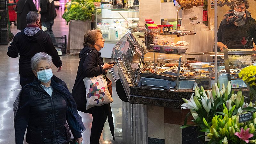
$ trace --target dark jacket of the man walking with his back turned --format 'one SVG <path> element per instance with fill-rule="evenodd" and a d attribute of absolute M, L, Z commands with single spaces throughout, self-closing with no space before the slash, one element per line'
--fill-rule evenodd
<path fill-rule="evenodd" d="M 9 57 L 17 58 L 18 55 L 20 55 L 20 76 L 35 77 L 32 72 L 30 60 L 37 52 L 48 53 L 52 56 L 53 64 L 57 68 L 61 67 L 62 61 L 60 60 L 56 48 L 52 44 L 50 36 L 42 30 L 37 31 L 36 33 L 35 31 L 31 31 L 31 33 L 33 36 L 28 36 L 28 33 L 25 35 L 24 30 L 20 31 L 14 36 L 11 46 L 8 47 L 7 54 Z"/>

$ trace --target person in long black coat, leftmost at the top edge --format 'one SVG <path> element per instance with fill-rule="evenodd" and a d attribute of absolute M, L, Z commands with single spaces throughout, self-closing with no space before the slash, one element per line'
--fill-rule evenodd
<path fill-rule="evenodd" d="M 23 30 L 27 26 L 25 21 L 28 12 L 35 11 L 36 6 L 32 0 L 19 0 L 17 5 L 17 29 Z"/>

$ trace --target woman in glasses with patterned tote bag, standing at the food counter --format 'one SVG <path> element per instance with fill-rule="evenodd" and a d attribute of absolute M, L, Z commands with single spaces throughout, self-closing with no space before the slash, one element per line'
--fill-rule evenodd
<path fill-rule="evenodd" d="M 96 106 L 86 110 L 86 89 L 83 79 L 85 77 L 105 75 L 108 69 L 111 69 L 114 66 L 114 64 L 104 64 L 103 59 L 100 57 L 99 51 L 104 47 L 104 41 L 105 40 L 103 39 L 100 30 L 89 30 L 85 33 L 83 44 L 84 48 L 79 53 L 80 61 L 77 69 L 75 84 L 72 90 L 72 96 L 76 101 L 77 110 L 92 114 L 93 121 L 90 144 L 99 144 L 100 135 L 107 117 L 108 123 L 113 123 L 110 104 Z"/>

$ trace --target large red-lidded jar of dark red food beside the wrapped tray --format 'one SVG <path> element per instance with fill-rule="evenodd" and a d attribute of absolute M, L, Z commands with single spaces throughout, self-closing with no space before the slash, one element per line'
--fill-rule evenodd
<path fill-rule="evenodd" d="M 157 26 L 148 26 L 145 31 L 145 45 L 148 49 L 153 49 L 150 44 L 153 44 L 154 36 L 159 34 L 160 31 Z"/>

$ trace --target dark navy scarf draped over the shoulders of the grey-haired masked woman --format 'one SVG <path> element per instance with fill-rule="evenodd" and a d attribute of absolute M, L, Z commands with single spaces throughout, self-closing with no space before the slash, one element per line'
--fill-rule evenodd
<path fill-rule="evenodd" d="M 23 88 L 25 88 L 25 87 L 36 87 L 38 85 L 40 85 L 40 81 L 35 80 L 31 84 L 27 84 Z M 68 121 L 69 126 L 71 126 L 77 132 L 84 132 L 85 127 L 84 127 L 84 124 L 82 122 L 82 117 L 77 112 L 76 102 L 75 102 L 73 96 L 71 95 L 71 93 L 65 87 L 63 87 L 61 84 L 56 83 L 53 78 L 51 79 L 51 86 L 54 90 L 56 90 L 57 92 L 60 92 L 62 94 L 63 98 L 65 99 L 65 101 L 67 103 L 67 109 L 68 109 L 68 111 L 67 111 L 67 121 Z M 13 104 L 14 120 L 15 120 L 15 117 L 17 116 L 18 112 L 19 112 L 20 94 L 21 93 L 22 93 L 22 89 L 21 89 L 19 95 L 16 97 L 16 100 Z M 15 127 L 15 125 L 14 125 L 14 127 Z"/>

